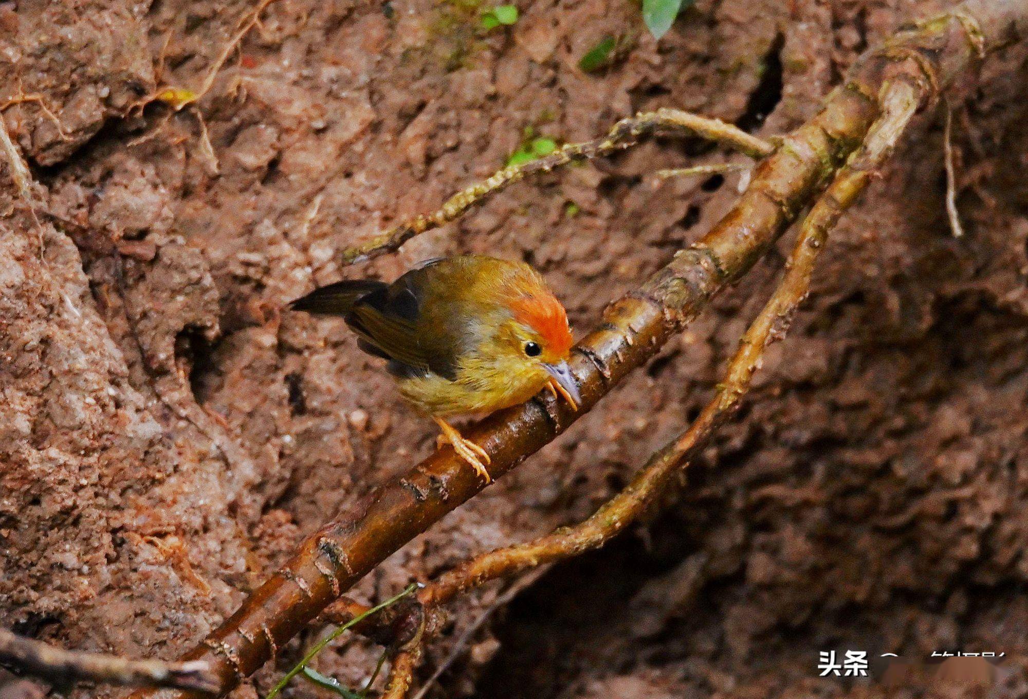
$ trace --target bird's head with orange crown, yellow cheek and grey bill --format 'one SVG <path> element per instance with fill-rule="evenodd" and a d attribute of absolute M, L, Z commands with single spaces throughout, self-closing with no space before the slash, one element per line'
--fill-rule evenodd
<path fill-rule="evenodd" d="M 508 312 L 485 348 L 497 368 L 534 392 L 548 387 L 577 408 L 582 397 L 567 366 L 574 339 L 560 301 L 541 286 L 522 288 L 502 305 Z"/>

